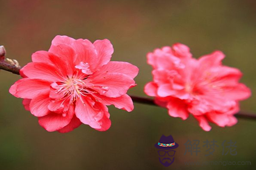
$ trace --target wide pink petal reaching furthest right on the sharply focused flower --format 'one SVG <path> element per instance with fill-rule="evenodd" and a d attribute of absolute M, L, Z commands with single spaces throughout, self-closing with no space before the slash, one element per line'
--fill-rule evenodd
<path fill-rule="evenodd" d="M 110 61 L 101 67 L 98 72 L 95 72 L 94 75 L 102 73 L 122 73 L 129 78 L 135 78 L 138 75 L 138 67 L 121 61 Z"/>

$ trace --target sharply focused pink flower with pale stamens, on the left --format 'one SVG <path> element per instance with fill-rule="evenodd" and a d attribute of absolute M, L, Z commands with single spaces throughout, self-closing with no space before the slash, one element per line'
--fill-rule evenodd
<path fill-rule="evenodd" d="M 135 86 L 138 68 L 130 63 L 110 61 L 113 46 L 108 39 L 56 36 L 49 51 L 32 55 L 10 87 L 10 93 L 24 98 L 25 109 L 38 117 L 46 131 L 69 132 L 88 124 L 98 131 L 110 125 L 108 105 L 133 110 L 127 90 Z"/>

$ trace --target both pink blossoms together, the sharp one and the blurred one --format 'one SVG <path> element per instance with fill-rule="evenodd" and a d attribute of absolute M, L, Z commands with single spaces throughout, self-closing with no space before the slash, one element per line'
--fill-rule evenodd
<path fill-rule="evenodd" d="M 32 62 L 20 70 L 21 79 L 10 87 L 10 94 L 23 98 L 23 105 L 46 131 L 69 132 L 80 124 L 98 131 L 111 126 L 109 105 L 133 110 L 127 90 L 138 67 L 110 61 L 113 46 L 108 39 L 90 42 L 56 36 L 48 51 L 32 55 Z M 193 58 L 190 49 L 174 44 L 147 55 L 153 80 L 144 92 L 155 103 L 166 107 L 171 117 L 186 120 L 193 115 L 205 131 L 218 126 L 233 126 L 239 101 L 251 90 L 239 83 L 242 73 L 223 66 L 224 54 L 215 51 Z"/>

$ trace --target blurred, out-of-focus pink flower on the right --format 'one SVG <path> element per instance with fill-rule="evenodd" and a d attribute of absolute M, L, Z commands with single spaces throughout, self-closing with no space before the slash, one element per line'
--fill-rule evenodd
<path fill-rule="evenodd" d="M 233 126 L 240 107 L 238 101 L 251 95 L 251 90 L 239 83 L 240 70 L 222 66 L 224 54 L 215 51 L 198 60 L 183 44 L 155 49 L 148 53 L 153 67 L 153 81 L 144 92 L 168 109 L 172 117 L 187 119 L 189 113 L 210 131 L 208 121 L 218 126 Z"/>

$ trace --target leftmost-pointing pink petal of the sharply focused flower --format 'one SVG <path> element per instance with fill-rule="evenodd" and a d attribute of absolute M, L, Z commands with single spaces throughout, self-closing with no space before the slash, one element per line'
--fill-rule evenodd
<path fill-rule="evenodd" d="M 38 94 L 46 94 L 50 90 L 50 83 L 44 80 L 23 78 L 10 87 L 10 94 L 19 98 L 34 98 Z"/>

